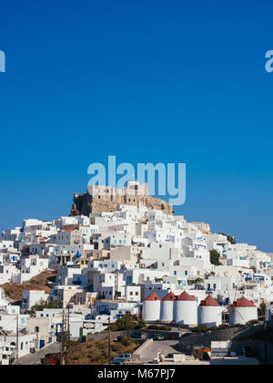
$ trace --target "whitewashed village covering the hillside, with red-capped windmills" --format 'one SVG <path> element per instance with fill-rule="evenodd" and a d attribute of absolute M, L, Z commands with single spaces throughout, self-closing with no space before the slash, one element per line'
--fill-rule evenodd
<path fill-rule="evenodd" d="M 1 234 L 0 365 L 264 363 L 273 254 L 134 199 L 140 186 Z"/>

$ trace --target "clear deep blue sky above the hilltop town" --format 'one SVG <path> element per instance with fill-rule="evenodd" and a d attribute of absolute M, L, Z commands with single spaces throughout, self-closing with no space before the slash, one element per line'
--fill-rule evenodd
<path fill-rule="evenodd" d="M 0 229 L 94 161 L 187 162 L 188 221 L 273 252 L 271 1 L 2 2 Z"/>

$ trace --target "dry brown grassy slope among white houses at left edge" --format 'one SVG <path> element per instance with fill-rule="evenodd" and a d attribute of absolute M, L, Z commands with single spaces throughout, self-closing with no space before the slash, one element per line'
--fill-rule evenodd
<path fill-rule="evenodd" d="M 1 287 L 5 290 L 5 295 L 7 297 L 15 302 L 21 302 L 24 290 L 45 290 L 45 293 L 49 294 L 51 288 L 48 287 L 48 282 L 54 281 L 55 278 L 56 274 L 45 271 L 23 284 L 5 284 L 1 285 Z"/>

